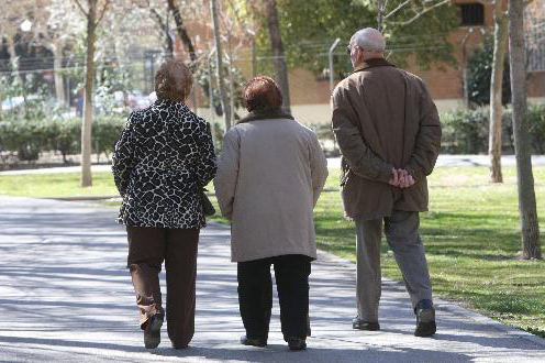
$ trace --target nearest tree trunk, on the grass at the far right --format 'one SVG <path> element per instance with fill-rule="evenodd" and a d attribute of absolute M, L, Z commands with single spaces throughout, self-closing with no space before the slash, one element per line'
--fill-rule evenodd
<path fill-rule="evenodd" d="M 540 228 L 535 206 L 534 176 L 526 119 L 523 2 L 509 1 L 509 50 L 513 103 L 514 150 L 522 224 L 522 257 L 541 258 Z"/>

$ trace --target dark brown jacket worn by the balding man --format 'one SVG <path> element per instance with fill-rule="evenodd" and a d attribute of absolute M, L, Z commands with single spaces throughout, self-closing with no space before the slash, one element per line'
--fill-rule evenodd
<path fill-rule="evenodd" d="M 392 209 L 426 211 L 426 175 L 440 152 L 441 123 L 424 82 L 372 58 L 337 85 L 331 103 L 346 217 L 371 220 Z M 392 168 L 407 169 L 415 184 L 390 186 Z"/>

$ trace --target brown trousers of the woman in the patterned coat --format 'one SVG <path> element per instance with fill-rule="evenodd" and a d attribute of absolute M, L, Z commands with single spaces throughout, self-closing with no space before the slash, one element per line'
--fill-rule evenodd
<path fill-rule="evenodd" d="M 154 315 L 165 316 L 159 272 L 167 275 L 167 330 L 175 345 L 187 345 L 194 332 L 194 283 L 198 229 L 127 227 L 129 257 L 141 328 Z"/>

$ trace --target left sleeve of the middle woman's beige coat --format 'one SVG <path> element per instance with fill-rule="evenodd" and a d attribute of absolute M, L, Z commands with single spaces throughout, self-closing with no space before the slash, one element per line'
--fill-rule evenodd
<path fill-rule="evenodd" d="M 231 220 L 238 179 L 238 161 L 241 157 L 240 138 L 236 130 L 231 129 L 223 139 L 223 147 L 218 160 L 218 174 L 214 179 L 215 196 L 222 216 Z"/>

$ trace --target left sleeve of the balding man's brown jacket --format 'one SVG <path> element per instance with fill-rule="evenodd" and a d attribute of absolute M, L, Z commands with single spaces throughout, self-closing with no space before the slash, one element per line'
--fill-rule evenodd
<path fill-rule="evenodd" d="M 385 163 L 367 147 L 356 127 L 358 117 L 345 91 L 337 87 L 331 98 L 332 129 L 351 170 L 366 179 L 388 183 L 393 166 Z"/>

